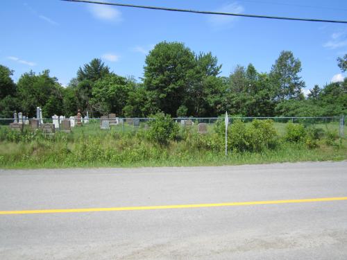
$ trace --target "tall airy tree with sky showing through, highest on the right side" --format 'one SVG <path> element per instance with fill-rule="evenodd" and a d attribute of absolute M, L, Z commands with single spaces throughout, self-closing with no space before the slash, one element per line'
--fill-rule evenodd
<path fill-rule="evenodd" d="M 305 83 L 298 76 L 301 72 L 300 60 L 294 58 L 291 51 L 282 51 L 271 68 L 270 76 L 277 85 L 278 101 L 287 99 L 303 99 L 301 89 Z"/>

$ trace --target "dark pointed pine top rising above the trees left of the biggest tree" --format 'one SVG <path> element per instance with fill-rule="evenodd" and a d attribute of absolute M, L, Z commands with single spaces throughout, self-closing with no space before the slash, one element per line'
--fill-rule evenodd
<path fill-rule="evenodd" d="M 77 80 L 90 80 L 92 82 L 103 78 L 110 73 L 110 68 L 105 66 L 101 59 L 94 58 L 90 63 L 84 64 L 77 71 Z"/>

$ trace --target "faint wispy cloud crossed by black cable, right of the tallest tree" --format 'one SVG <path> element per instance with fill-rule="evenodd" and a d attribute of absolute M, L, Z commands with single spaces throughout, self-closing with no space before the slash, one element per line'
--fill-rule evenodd
<path fill-rule="evenodd" d="M 217 10 L 215 12 L 232 12 L 235 14 L 239 14 L 244 12 L 244 8 L 240 6 L 238 3 L 229 3 Z M 212 24 L 212 26 L 226 26 L 235 21 L 237 17 L 235 16 L 226 16 L 226 15 L 210 15 L 208 18 L 208 22 Z"/>

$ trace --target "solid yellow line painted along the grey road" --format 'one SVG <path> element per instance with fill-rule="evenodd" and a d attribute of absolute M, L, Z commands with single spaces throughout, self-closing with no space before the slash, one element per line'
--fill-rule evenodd
<path fill-rule="evenodd" d="M 230 207 L 230 206 L 245 206 L 245 205 L 268 205 L 268 204 L 287 204 L 287 203 L 303 203 L 303 202 L 323 202 L 323 201 L 336 201 L 336 200 L 347 200 L 347 197 L 308 198 L 308 199 L 302 199 L 302 200 L 266 200 L 266 201 L 250 201 L 250 202 L 226 202 L 226 203 L 191 204 L 191 205 L 105 207 L 105 208 L 90 208 L 90 209 L 13 210 L 13 211 L 0 211 L 0 215 L 73 213 L 73 212 L 96 212 L 96 211 L 130 211 L 130 210 L 151 210 L 151 209 L 190 209 L 190 208 L 198 208 L 198 207 Z"/>

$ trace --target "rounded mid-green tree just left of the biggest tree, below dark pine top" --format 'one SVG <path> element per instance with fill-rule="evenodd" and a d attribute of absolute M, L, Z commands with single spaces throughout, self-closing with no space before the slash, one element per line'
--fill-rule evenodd
<path fill-rule="evenodd" d="M 97 80 L 93 85 L 90 100 L 94 111 L 100 114 L 110 112 L 117 115 L 122 114 L 130 89 L 134 85 L 135 83 L 117 76 L 115 73 L 110 73 L 108 76 Z"/>

